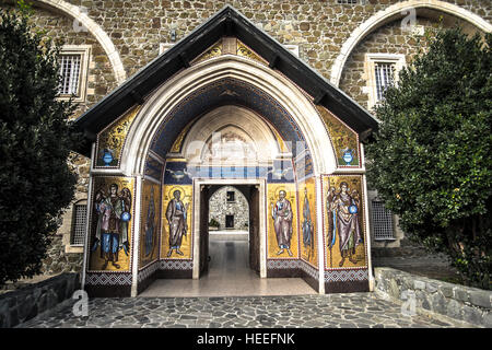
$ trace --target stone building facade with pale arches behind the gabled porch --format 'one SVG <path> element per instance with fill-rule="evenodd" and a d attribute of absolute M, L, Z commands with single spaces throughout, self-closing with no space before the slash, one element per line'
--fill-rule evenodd
<path fill-rule="evenodd" d="M 83 91 L 78 91 L 74 118 L 226 4 L 366 109 L 377 103 L 378 86 L 387 83 L 377 81 L 375 70 L 398 71 L 410 65 L 426 47 L 425 30 L 455 24 L 468 33 L 492 30 L 489 0 L 36 0 L 33 4 L 36 26 L 63 40 L 67 55 L 80 55 L 78 83 Z M 91 160 L 73 154 L 70 163 L 80 175 L 74 202 L 80 209 L 87 201 Z M 375 191 L 368 192 L 368 202 L 375 210 Z M 73 244 L 74 208 L 67 210 L 46 272 L 77 270 L 82 261 L 83 247 Z M 397 218 L 390 218 L 393 233 L 373 234 L 372 244 L 398 247 L 405 235 Z M 379 219 L 370 215 L 372 228 Z"/>

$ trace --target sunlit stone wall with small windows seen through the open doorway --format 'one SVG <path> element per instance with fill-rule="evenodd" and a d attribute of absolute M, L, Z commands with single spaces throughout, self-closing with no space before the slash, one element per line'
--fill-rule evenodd
<path fill-rule="evenodd" d="M 234 191 L 235 200 L 227 201 L 227 191 Z M 210 198 L 209 222 L 214 218 L 221 224 L 220 230 L 225 230 L 225 215 L 234 215 L 234 230 L 248 230 L 249 208 L 243 194 L 232 186 L 220 188 Z"/>

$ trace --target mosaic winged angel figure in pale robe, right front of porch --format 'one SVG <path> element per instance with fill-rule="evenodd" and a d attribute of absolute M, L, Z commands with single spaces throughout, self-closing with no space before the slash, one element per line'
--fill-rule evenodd
<path fill-rule="evenodd" d="M 361 226 L 359 223 L 360 200 L 359 192 L 354 189 L 350 194 L 349 185 L 345 182 L 340 183 L 340 190 L 337 192 L 333 187 L 328 189 L 328 247 L 331 248 L 339 236 L 339 247 L 342 267 L 345 258 L 350 262 L 358 264 L 355 248 L 362 243 Z"/>

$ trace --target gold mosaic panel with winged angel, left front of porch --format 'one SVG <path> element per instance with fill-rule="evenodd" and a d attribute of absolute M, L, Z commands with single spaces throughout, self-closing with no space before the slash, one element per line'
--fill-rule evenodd
<path fill-rule="evenodd" d="M 133 248 L 134 178 L 97 176 L 93 184 L 87 270 L 129 271 Z M 128 221 L 125 221 L 125 212 L 130 214 Z"/>

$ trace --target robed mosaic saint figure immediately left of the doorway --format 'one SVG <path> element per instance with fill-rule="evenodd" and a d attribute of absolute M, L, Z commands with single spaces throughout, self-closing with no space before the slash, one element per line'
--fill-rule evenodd
<path fill-rule="evenodd" d="M 166 209 L 166 219 L 169 224 L 169 252 L 167 253 L 167 257 L 173 254 L 173 249 L 176 250 L 177 254 L 183 255 L 183 252 L 179 250 L 181 246 L 183 236 L 186 236 L 188 231 L 188 223 L 186 222 L 186 212 L 188 211 L 188 205 L 186 206 L 179 199 L 181 192 L 179 190 L 175 190 L 173 192 L 174 198 L 169 201 Z"/>

